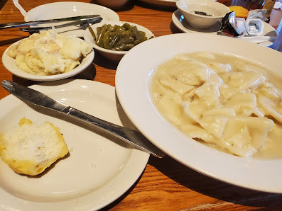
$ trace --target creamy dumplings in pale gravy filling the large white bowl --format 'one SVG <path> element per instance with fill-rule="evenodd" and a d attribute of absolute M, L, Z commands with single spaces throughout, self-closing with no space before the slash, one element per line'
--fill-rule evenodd
<path fill-rule="evenodd" d="M 281 156 L 282 96 L 267 74 L 229 55 L 177 55 L 153 74 L 152 98 L 165 118 L 194 139 L 238 156 Z"/>

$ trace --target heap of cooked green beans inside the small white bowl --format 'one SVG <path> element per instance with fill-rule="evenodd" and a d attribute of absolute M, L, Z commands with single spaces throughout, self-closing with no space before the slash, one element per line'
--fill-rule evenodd
<path fill-rule="evenodd" d="M 123 25 L 104 24 L 97 27 L 97 38 L 92 36 L 99 47 L 118 51 L 130 50 L 139 43 L 148 40 L 146 33 L 129 23 Z"/>

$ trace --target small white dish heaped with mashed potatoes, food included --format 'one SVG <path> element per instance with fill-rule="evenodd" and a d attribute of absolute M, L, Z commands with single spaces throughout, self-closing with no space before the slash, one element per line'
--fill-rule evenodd
<path fill-rule="evenodd" d="M 53 30 L 33 33 L 15 42 L 2 56 L 9 72 L 33 81 L 66 79 L 85 70 L 93 59 L 89 42 Z"/>

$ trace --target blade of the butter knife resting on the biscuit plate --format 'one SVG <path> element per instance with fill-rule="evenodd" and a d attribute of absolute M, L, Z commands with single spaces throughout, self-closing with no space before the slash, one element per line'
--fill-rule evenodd
<path fill-rule="evenodd" d="M 147 152 L 148 154 L 152 154 L 159 158 L 165 156 L 165 154 L 160 149 L 155 147 L 151 142 L 149 142 L 148 139 L 146 139 L 146 137 L 141 134 L 141 132 L 131 130 L 126 127 L 121 127 L 119 125 L 115 125 L 111 122 L 107 122 L 99 118 L 95 118 L 92 115 L 84 113 L 81 110 L 77 110 L 70 106 L 67 106 L 67 108 L 63 110 L 63 113 L 71 115 L 77 120 L 82 120 L 87 124 L 94 125 L 95 127 L 98 127 L 99 129 L 102 129 L 105 132 L 109 132 L 115 137 L 118 137 L 119 139 L 122 139 L 129 144 L 133 144 L 136 148 L 139 148 L 142 151 Z"/>

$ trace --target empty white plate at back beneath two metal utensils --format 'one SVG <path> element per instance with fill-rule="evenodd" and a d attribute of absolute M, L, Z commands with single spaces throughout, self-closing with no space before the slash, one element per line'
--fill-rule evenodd
<path fill-rule="evenodd" d="M 75 1 L 61 1 L 50 4 L 43 4 L 32 8 L 26 13 L 25 21 L 39 21 L 53 18 L 67 18 L 72 16 L 100 15 L 103 21 L 119 21 L 119 15 L 112 9 L 97 4 L 88 4 Z M 60 25 L 61 23 L 52 23 Z M 40 26 L 50 26 L 52 24 L 41 24 Z M 83 37 L 85 30 L 77 26 L 68 26 L 56 29 L 58 33 L 67 33 L 76 37 Z"/>

